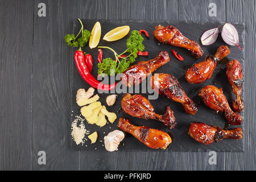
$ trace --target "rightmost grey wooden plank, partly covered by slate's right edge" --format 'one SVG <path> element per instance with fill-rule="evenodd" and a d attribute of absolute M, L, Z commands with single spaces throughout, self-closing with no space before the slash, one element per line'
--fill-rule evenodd
<path fill-rule="evenodd" d="M 246 122 L 244 139 L 245 152 L 226 153 L 226 170 L 255 170 L 256 169 L 256 144 L 255 138 L 255 118 L 256 118 L 256 94 L 255 94 L 255 21 L 256 21 L 256 2 L 255 1 L 226 1 L 226 21 L 245 23 L 245 118 Z M 235 163 L 234 163 L 235 161 Z"/>

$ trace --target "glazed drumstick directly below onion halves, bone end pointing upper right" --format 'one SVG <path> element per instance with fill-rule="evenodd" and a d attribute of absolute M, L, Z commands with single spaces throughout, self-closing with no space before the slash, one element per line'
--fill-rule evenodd
<path fill-rule="evenodd" d="M 191 84 L 200 84 L 212 77 L 212 73 L 216 69 L 217 63 L 224 57 L 228 56 L 230 49 L 228 46 L 221 46 L 217 49 L 214 56 L 209 55 L 205 60 L 192 65 L 186 72 L 185 78 Z"/>

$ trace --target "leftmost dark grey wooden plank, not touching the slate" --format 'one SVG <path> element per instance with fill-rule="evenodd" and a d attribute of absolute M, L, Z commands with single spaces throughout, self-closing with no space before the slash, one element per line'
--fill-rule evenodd
<path fill-rule="evenodd" d="M 33 6 L 0 2 L 0 170 L 31 169 Z"/>

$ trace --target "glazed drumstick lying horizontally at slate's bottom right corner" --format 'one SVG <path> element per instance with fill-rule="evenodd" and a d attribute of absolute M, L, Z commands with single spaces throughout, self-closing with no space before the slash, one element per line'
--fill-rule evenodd
<path fill-rule="evenodd" d="M 199 143 L 211 144 L 224 138 L 242 139 L 242 129 L 236 127 L 230 130 L 222 130 L 220 127 L 206 125 L 200 122 L 192 122 L 188 134 Z"/>

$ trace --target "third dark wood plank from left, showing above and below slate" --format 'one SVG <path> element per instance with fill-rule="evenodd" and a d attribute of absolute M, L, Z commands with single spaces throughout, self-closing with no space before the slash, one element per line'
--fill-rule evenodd
<path fill-rule="evenodd" d="M 129 1 L 82 1 L 81 19 L 129 19 Z M 129 152 L 80 151 L 81 170 L 128 170 Z"/>

